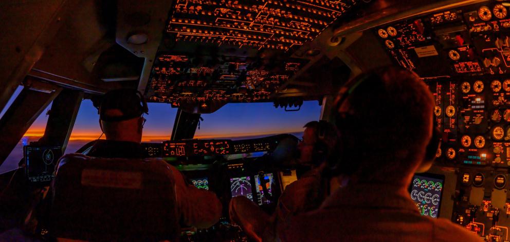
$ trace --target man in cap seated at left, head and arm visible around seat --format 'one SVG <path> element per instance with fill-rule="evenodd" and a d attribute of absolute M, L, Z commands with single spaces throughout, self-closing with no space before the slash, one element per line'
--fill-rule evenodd
<path fill-rule="evenodd" d="M 118 89 L 107 92 L 99 107 L 99 125 L 106 140 L 98 139 L 88 156 L 111 158 L 142 158 L 140 146 L 143 113 L 148 113 L 147 104 L 137 90 Z M 222 205 L 212 192 L 197 189 L 185 182 L 183 175 L 174 167 L 175 191 L 184 225 L 208 228 L 221 217 Z"/>

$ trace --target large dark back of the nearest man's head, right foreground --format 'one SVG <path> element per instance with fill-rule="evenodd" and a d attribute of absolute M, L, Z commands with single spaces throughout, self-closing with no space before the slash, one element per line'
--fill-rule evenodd
<path fill-rule="evenodd" d="M 368 179 L 413 172 L 431 138 L 431 92 L 414 72 L 400 67 L 374 69 L 361 79 L 344 102 L 349 118 L 337 127 L 340 166 Z"/>

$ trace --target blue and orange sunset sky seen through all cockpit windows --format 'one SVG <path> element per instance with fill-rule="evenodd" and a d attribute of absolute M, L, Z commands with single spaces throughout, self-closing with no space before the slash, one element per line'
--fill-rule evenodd
<path fill-rule="evenodd" d="M 17 96 L 22 88 L 16 90 Z M 14 98 L 11 98 L 11 101 Z M 10 103 L 8 104 L 10 105 Z M 46 126 L 46 110 L 35 120 L 25 136 L 42 136 Z M 203 114 L 204 121 L 195 138 L 240 137 L 275 133 L 292 133 L 303 130 L 303 125 L 318 120 L 321 107 L 317 101 L 304 102 L 298 112 L 285 112 L 272 103 L 228 104 L 212 114 Z M 5 110 L 4 110 L 5 111 Z M 149 115 L 143 130 L 144 141 L 169 139 L 177 109 L 170 104 L 149 103 Z M 3 112 L 0 113 L 0 116 Z M 101 134 L 97 109 L 90 100 L 83 100 L 71 140 L 93 140 Z"/>

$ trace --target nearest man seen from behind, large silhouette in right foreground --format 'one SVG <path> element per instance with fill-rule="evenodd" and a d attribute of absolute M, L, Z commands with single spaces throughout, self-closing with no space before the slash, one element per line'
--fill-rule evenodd
<path fill-rule="evenodd" d="M 319 209 L 294 216 L 282 241 L 482 241 L 444 218 L 420 214 L 408 192 L 427 171 L 433 96 L 412 71 L 385 67 L 355 78 L 336 99 L 336 165 L 349 184 Z M 436 143 L 438 144 L 438 143 Z M 437 148 L 438 146 L 435 146 Z M 424 162 L 424 160 L 427 160 Z"/>

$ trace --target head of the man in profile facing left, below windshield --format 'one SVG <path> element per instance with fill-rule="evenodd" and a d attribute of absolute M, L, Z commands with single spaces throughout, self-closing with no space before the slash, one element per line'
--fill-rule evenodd
<path fill-rule="evenodd" d="M 308 122 L 303 128 L 303 139 L 298 144 L 299 162 L 305 165 L 320 165 L 334 149 L 337 131 L 324 120 Z"/>

